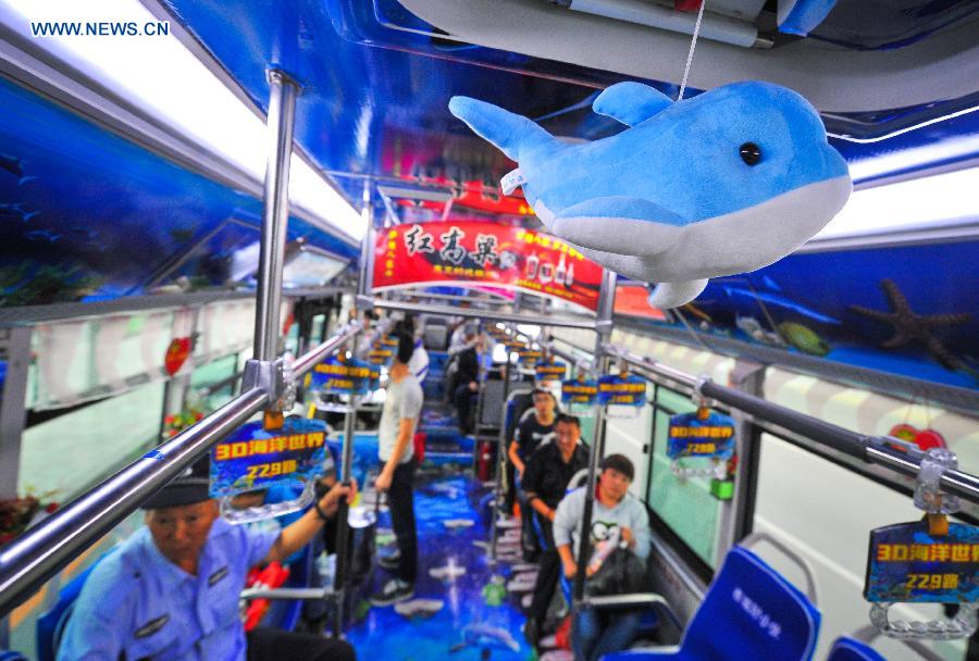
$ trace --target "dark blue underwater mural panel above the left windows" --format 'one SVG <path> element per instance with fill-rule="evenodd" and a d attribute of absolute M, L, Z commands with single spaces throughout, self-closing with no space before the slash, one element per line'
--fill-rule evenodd
<path fill-rule="evenodd" d="M 145 294 L 178 275 L 223 286 L 235 251 L 258 240 L 259 200 L 5 80 L 0 108 L 0 305 Z M 356 257 L 296 219 L 289 235 Z"/>

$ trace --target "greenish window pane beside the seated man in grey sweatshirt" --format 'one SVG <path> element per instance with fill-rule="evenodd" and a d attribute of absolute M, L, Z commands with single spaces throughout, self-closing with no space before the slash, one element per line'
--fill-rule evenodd
<path fill-rule="evenodd" d="M 656 389 L 653 471 L 649 508 L 709 566 L 716 568 L 717 526 L 722 501 L 710 495 L 709 477 L 680 479 L 670 470 L 666 454 L 670 415 L 694 411 L 686 395 L 664 387 Z M 696 460 L 706 464 L 706 460 Z"/>

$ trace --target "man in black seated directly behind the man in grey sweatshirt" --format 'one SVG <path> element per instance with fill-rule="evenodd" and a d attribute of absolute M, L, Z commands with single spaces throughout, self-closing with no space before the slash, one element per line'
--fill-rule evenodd
<path fill-rule="evenodd" d="M 549 392 L 548 392 L 549 395 Z M 536 402 L 535 402 L 536 406 Z M 554 542 L 554 519 L 558 503 L 575 473 L 588 467 L 588 450 L 581 444 L 581 422 L 573 415 L 560 415 L 555 424 L 554 442 L 542 444 L 526 462 L 520 483 L 540 531 L 544 554 L 534 584 L 534 597 L 524 634 L 535 644 L 547 607 L 560 579 L 561 561 Z"/>

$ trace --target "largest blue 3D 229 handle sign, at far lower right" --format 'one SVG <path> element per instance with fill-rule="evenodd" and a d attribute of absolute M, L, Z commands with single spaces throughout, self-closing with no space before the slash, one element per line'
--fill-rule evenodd
<path fill-rule="evenodd" d="M 864 597 L 873 602 L 979 601 L 979 527 L 950 523 L 932 536 L 927 521 L 870 532 Z"/>

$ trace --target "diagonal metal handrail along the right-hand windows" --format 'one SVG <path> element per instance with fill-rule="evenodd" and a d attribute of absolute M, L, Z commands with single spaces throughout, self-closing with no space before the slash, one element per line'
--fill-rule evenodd
<path fill-rule="evenodd" d="M 625 361 L 637 372 L 645 373 L 650 378 L 659 377 L 681 383 L 698 390 L 708 399 L 743 411 L 756 420 L 810 438 L 860 461 L 888 467 L 908 477 L 917 476 L 920 470 L 921 452 L 902 452 L 892 449 L 888 445 L 887 438 L 858 434 L 742 390 L 721 386 L 709 378 L 701 381 L 691 374 L 668 367 L 653 359 L 636 356 L 621 347 L 605 345 L 604 350 L 609 356 Z M 945 471 L 942 474 L 941 484 L 949 494 L 961 496 L 969 502 L 979 504 L 979 477 L 963 471 Z"/>

